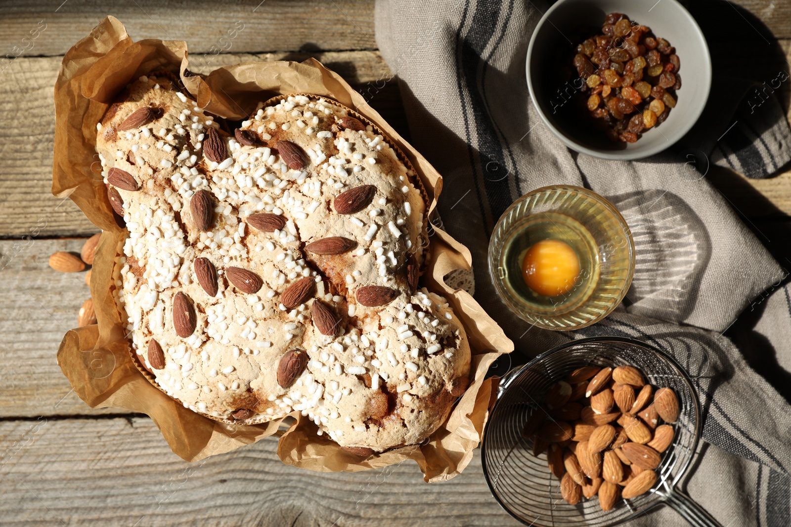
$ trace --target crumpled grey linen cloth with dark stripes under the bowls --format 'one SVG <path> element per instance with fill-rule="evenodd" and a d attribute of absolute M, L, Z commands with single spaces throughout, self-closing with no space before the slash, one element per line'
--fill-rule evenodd
<path fill-rule="evenodd" d="M 774 354 L 775 369 L 791 371 L 787 273 L 677 154 L 600 160 L 566 149 L 551 134 L 524 76 L 528 41 L 545 8 L 529 0 L 377 2 L 377 43 L 398 77 L 412 142 L 445 178 L 434 221 L 471 250 L 475 298 L 517 352 L 536 356 L 572 338 L 621 335 L 678 359 L 704 412 L 704 440 L 681 488 L 722 525 L 791 525 L 791 408 L 745 358 L 761 343 L 753 352 Z M 740 103 L 750 86 L 730 86 L 717 93 L 730 97 L 720 107 L 738 115 L 707 118 L 685 141 L 712 165 L 766 177 L 789 160 L 788 123 L 774 98 L 751 113 Z M 365 95 L 376 106 L 376 90 Z M 637 250 L 623 305 L 574 333 L 531 328 L 509 313 L 486 265 L 501 213 L 529 190 L 555 183 L 587 186 L 612 201 Z M 760 314 L 737 347 L 723 333 L 756 303 Z M 663 506 L 629 525 L 687 524 Z"/>

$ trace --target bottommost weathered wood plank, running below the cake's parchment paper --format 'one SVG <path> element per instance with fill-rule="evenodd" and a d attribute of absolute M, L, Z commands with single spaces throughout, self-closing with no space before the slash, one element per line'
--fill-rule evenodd
<path fill-rule="evenodd" d="M 0 423 L 2 524 L 519 525 L 475 454 L 444 484 L 405 461 L 356 473 L 283 465 L 275 439 L 187 463 L 147 418 Z"/>

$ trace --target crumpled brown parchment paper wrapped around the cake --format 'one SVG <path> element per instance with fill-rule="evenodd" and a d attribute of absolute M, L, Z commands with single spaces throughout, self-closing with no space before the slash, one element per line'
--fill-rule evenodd
<path fill-rule="evenodd" d="M 323 472 L 359 471 L 412 459 L 427 482 L 459 474 L 478 446 L 496 385 L 484 380 L 490 364 L 513 343 L 467 292 L 452 290 L 443 277 L 454 269 L 469 269 L 469 251 L 445 232 L 430 238 L 431 260 L 423 275 L 431 291 L 444 295 L 464 323 L 472 350 L 471 385 L 451 416 L 421 445 L 405 446 L 365 460 L 348 454 L 316 435 L 316 425 L 294 412 L 286 431 L 282 420 L 257 425 L 223 423 L 184 408 L 138 370 L 130 342 L 112 299 L 112 267 L 120 254 L 126 229 L 119 227 L 110 207 L 95 150 L 96 123 L 113 98 L 134 79 L 149 73 L 172 72 L 200 107 L 221 117 L 247 117 L 259 101 L 290 93 L 326 96 L 365 116 L 402 150 L 428 194 L 430 209 L 437 202 L 442 179 L 436 170 L 337 73 L 320 62 L 243 62 L 214 70 L 205 77 L 188 70 L 187 44 L 175 40 L 133 42 L 114 17 L 107 17 L 63 58 L 55 83 L 55 161 L 52 193 L 69 196 L 103 234 L 91 274 L 91 296 L 97 325 L 72 329 L 60 344 L 58 363 L 74 391 L 88 405 L 115 406 L 146 413 L 174 453 L 187 461 L 221 454 L 280 435 L 278 456 L 288 465 Z"/>

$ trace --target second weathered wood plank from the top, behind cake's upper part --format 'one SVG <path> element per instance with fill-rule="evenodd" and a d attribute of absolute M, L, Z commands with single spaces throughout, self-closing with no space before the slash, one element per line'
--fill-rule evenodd
<path fill-rule="evenodd" d="M 398 85 L 388 81 L 390 70 L 377 51 L 217 55 L 195 62 L 197 70 L 208 72 L 249 60 L 302 61 L 308 57 L 318 58 L 357 88 L 363 89 L 369 82 L 377 88 L 384 85 L 370 104 L 408 137 Z M 55 133 L 52 86 L 61 60 L 17 59 L 0 82 L 0 238 L 21 238 L 37 225 L 42 236 L 95 232 L 74 203 L 50 194 Z"/>

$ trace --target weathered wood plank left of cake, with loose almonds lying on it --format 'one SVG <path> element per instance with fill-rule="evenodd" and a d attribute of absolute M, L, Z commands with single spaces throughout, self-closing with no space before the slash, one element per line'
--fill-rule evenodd
<path fill-rule="evenodd" d="M 71 391 L 55 360 L 90 292 L 84 272 L 59 273 L 47 262 L 57 250 L 79 252 L 84 241 L 0 241 L 0 417 L 127 412 L 89 408 Z"/>

